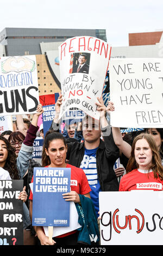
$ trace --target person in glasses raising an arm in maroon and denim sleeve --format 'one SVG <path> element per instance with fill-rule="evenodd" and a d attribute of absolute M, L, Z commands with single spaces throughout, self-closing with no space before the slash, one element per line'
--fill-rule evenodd
<path fill-rule="evenodd" d="M 29 197 L 29 191 L 30 191 L 29 184 L 33 176 L 33 168 L 35 166 L 41 166 L 40 163 L 35 162 L 32 159 L 33 143 L 34 143 L 34 139 L 36 138 L 36 132 L 39 129 L 39 126 L 37 126 L 37 121 L 39 116 L 43 113 L 43 108 L 41 104 L 37 106 L 36 112 L 37 113 L 33 115 L 33 119 L 29 126 L 26 136 L 20 131 L 15 131 L 15 132 L 12 132 L 8 138 L 12 149 L 15 151 L 18 175 L 20 179 L 23 179 L 24 186 L 26 186 L 26 192 L 28 194 L 28 197 Z M 28 203 L 29 202 L 27 198 L 26 206 L 28 208 L 27 210 L 28 210 L 28 216 L 29 216 Z M 24 245 L 34 245 L 35 244 L 34 235 L 35 234 L 33 233 L 33 228 L 29 223 L 29 225 L 26 227 L 26 230 L 24 230 L 24 240 L 26 240 L 24 241 Z"/>

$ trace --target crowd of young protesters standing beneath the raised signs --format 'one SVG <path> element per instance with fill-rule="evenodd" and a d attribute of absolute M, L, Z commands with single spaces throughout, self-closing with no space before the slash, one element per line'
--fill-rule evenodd
<path fill-rule="evenodd" d="M 18 198 L 23 200 L 24 245 L 100 245 L 100 191 L 138 190 L 137 184 L 140 183 L 145 184 L 141 189 L 148 190 L 146 184 L 153 182 L 158 184 L 153 190 L 163 190 L 163 129 L 148 128 L 122 133 L 119 127 L 110 127 L 110 112 L 115 110 L 114 103 L 109 101 L 105 107 L 102 97 L 98 97 L 99 120 L 85 114 L 82 122 L 73 120 L 61 132 L 61 104 L 60 94 L 55 103 L 54 119 L 45 137 L 43 127 L 40 127 L 43 138 L 41 163 L 33 159 L 32 153 L 39 131 L 37 122 L 43 113 L 42 105 L 37 106 L 37 113 L 31 121 L 17 115 L 16 130 L 1 133 L 0 179 L 24 181 Z M 117 160 L 120 163 L 118 166 Z M 75 182 L 71 184 L 71 192 L 62 194 L 62 197 L 74 202 L 77 209 L 83 208 L 84 213 L 80 229 L 52 240 L 45 235 L 42 227 L 32 226 L 33 193 L 29 184 L 33 182 L 34 167 L 41 166 L 71 168 L 71 180 Z M 90 232 L 97 235 L 96 241 L 90 241 Z"/>

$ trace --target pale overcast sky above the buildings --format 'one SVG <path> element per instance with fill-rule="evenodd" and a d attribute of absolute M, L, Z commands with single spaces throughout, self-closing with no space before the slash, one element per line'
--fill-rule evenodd
<path fill-rule="evenodd" d="M 106 29 L 111 46 L 128 34 L 163 29 L 162 0 L 0 0 L 0 31 L 17 28 Z"/>

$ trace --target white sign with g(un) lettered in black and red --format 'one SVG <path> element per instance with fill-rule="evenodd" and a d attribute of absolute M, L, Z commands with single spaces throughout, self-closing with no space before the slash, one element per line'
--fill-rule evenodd
<path fill-rule="evenodd" d="M 162 191 L 99 192 L 101 245 L 163 245 Z"/>

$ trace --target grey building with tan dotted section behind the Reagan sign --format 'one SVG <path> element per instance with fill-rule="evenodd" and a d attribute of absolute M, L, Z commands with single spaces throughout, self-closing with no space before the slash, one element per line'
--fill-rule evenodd
<path fill-rule="evenodd" d="M 41 47 L 50 45 L 57 49 L 62 41 L 74 36 L 95 36 L 106 41 L 105 29 L 52 29 L 52 28 L 4 28 L 0 33 L 0 56 L 35 55 L 39 94 L 53 94 L 61 91 L 59 63 L 52 69 L 46 51 Z M 58 54 L 58 53 L 57 53 Z"/>

